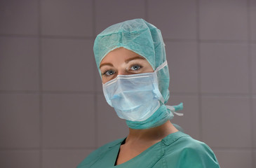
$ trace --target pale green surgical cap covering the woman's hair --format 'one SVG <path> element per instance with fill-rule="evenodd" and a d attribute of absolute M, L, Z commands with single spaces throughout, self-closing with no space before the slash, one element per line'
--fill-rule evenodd
<path fill-rule="evenodd" d="M 161 31 L 143 19 L 127 20 L 107 27 L 95 38 L 93 52 L 99 72 L 100 62 L 107 53 L 121 47 L 146 58 L 154 70 L 166 61 L 166 50 Z M 166 103 L 169 99 L 170 82 L 168 66 L 158 71 L 157 76 L 159 90 Z"/>

